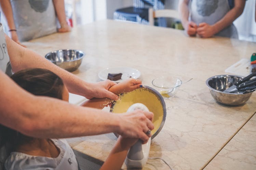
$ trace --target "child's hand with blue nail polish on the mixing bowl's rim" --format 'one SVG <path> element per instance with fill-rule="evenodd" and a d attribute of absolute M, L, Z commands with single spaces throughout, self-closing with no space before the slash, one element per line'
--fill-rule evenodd
<path fill-rule="evenodd" d="M 141 87 L 142 82 L 138 79 L 127 79 L 123 82 L 120 82 L 118 84 L 115 84 L 109 88 L 109 91 L 113 92 L 114 94 L 120 94 L 123 92 L 130 92 L 133 91 L 139 87 Z"/>

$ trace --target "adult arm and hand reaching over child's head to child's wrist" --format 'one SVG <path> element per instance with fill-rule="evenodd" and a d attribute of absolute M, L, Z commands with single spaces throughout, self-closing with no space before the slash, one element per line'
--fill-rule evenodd
<path fill-rule="evenodd" d="M 74 74 L 54 65 L 39 54 L 19 46 L 7 35 L 5 35 L 5 40 L 14 72 L 26 68 L 45 68 L 53 71 L 62 78 L 69 92 L 73 94 L 84 96 L 87 99 L 91 99 L 93 97 L 107 97 L 112 100 L 118 99 L 117 95 L 108 91 L 108 89 L 116 83 L 113 83 L 110 80 L 99 83 L 84 82 Z"/>

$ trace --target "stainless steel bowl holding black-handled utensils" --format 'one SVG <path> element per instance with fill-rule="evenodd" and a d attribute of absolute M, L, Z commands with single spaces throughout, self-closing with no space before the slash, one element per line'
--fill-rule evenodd
<path fill-rule="evenodd" d="M 212 97 L 215 101 L 226 105 L 240 105 L 247 102 L 252 96 L 251 93 L 238 94 L 223 92 L 230 86 L 241 80 L 243 77 L 236 75 L 216 75 L 206 80 L 206 85 L 209 87 Z"/>

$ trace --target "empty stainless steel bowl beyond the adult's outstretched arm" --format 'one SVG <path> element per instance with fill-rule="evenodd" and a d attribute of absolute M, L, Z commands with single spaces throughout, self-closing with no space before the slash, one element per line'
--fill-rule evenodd
<path fill-rule="evenodd" d="M 82 63 L 84 53 L 79 50 L 57 50 L 45 55 L 45 58 L 67 71 L 75 71 Z"/>

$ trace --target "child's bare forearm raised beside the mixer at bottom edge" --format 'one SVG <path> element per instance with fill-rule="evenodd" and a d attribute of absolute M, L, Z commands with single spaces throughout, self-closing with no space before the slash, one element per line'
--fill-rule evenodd
<path fill-rule="evenodd" d="M 102 165 L 100 170 L 120 170 L 128 150 L 133 146 L 138 139 L 136 138 L 123 138 L 119 136 L 116 145 L 111 150 L 107 160 Z"/>

